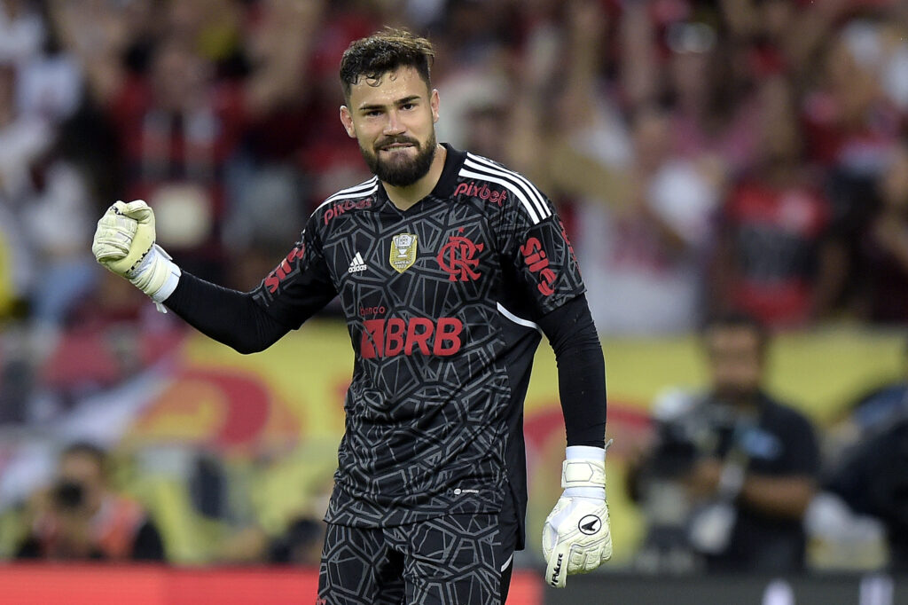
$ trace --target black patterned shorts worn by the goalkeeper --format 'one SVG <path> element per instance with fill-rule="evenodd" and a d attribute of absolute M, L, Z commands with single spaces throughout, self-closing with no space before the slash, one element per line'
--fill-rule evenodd
<path fill-rule="evenodd" d="M 316 604 L 504 603 L 517 536 L 509 506 L 386 528 L 329 523 Z"/>

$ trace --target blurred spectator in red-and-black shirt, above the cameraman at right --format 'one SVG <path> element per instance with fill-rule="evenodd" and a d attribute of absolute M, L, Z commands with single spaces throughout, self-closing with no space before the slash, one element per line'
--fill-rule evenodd
<path fill-rule="evenodd" d="M 801 162 L 791 91 L 776 78 L 763 93 L 757 162 L 722 208 L 712 303 L 773 327 L 803 326 L 832 306 L 844 281 L 844 253 L 827 237 L 831 208 Z"/>

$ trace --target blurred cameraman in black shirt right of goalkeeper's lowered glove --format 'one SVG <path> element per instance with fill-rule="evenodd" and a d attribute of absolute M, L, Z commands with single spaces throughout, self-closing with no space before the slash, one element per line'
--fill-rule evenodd
<path fill-rule="evenodd" d="M 631 469 L 630 488 L 651 521 L 643 552 L 672 553 L 656 561 L 662 568 L 677 568 L 680 552 L 692 563 L 702 556 L 708 570 L 804 565 L 819 451 L 810 422 L 762 389 L 766 340 L 745 315 L 709 322 L 711 390 L 656 405 L 656 443 Z"/>

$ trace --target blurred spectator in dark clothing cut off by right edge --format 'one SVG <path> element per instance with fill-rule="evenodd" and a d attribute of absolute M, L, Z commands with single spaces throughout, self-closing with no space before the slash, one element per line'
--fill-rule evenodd
<path fill-rule="evenodd" d="M 908 145 L 901 144 L 876 186 L 880 206 L 864 232 L 858 269 L 864 316 L 908 323 Z"/>

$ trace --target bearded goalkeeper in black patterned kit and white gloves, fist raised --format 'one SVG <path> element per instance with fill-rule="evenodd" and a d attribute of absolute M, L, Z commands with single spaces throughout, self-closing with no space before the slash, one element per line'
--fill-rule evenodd
<path fill-rule="evenodd" d="M 251 293 L 181 272 L 142 202 L 94 253 L 194 327 L 257 352 L 340 296 L 355 352 L 319 603 L 504 602 L 524 546 L 522 431 L 540 332 L 558 361 L 565 488 L 546 580 L 611 556 L 605 364 L 554 207 L 520 174 L 438 144 L 428 40 L 385 30 L 341 60 L 341 123 L 375 174 L 331 195 Z"/>

